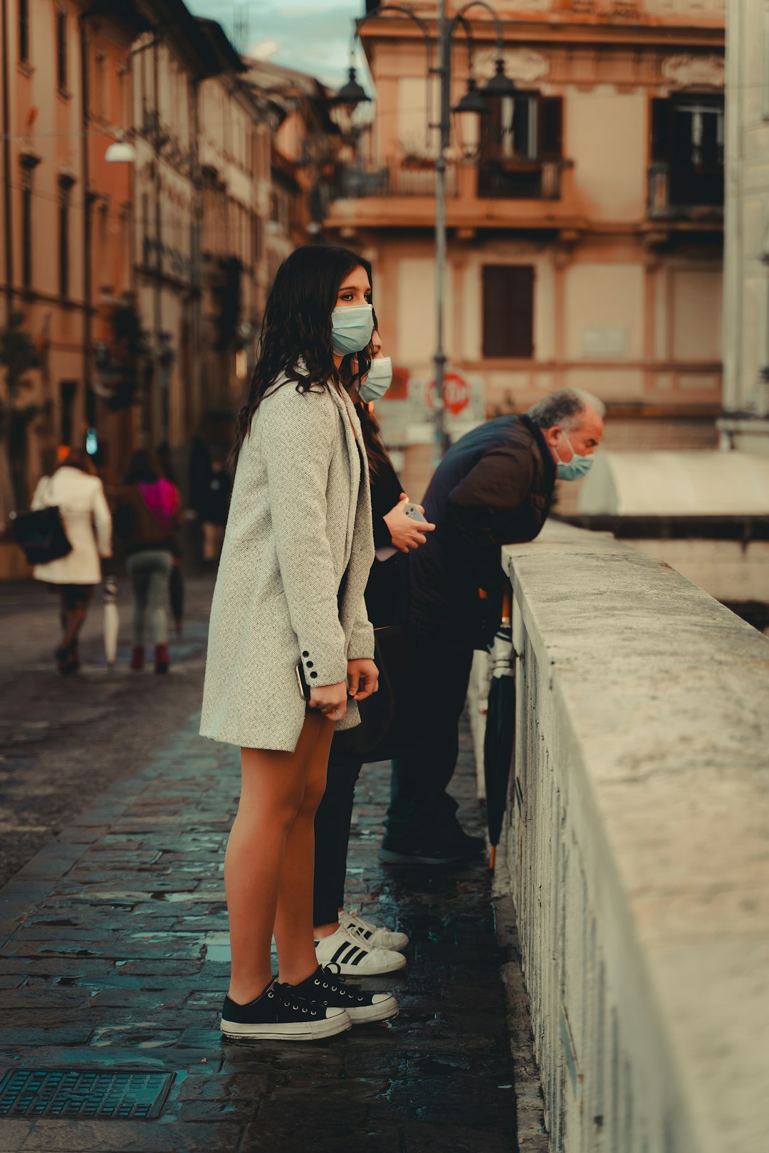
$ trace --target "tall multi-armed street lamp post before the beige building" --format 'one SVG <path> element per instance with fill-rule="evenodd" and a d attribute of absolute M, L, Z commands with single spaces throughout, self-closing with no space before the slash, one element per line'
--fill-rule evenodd
<path fill-rule="evenodd" d="M 497 45 L 497 60 L 496 60 L 496 73 L 485 85 L 482 91 L 476 90 L 475 78 L 473 77 L 473 42 L 468 28 L 466 13 L 470 8 L 485 8 L 485 10 L 491 15 L 495 23 L 495 36 Z M 430 51 L 430 31 L 424 23 L 415 13 L 408 8 L 401 8 L 399 5 L 383 5 L 382 8 L 375 12 L 368 13 L 365 16 L 356 21 L 355 30 L 353 32 L 353 44 L 350 50 L 350 62 L 353 59 L 355 50 L 355 39 L 360 36 L 361 28 L 370 20 L 379 20 L 385 13 L 398 13 L 402 16 L 408 16 L 409 20 L 414 21 L 422 32 L 425 44 L 428 47 L 428 61 Z M 440 98 L 439 98 L 439 115 L 440 119 L 437 125 L 431 125 L 431 128 L 438 129 L 438 156 L 435 163 L 435 190 L 436 190 L 436 213 L 435 213 L 435 264 L 436 264 L 436 339 L 435 339 L 435 431 L 433 431 L 433 458 L 435 465 L 440 464 L 440 460 L 445 455 L 448 447 L 448 434 L 446 431 L 445 422 L 445 406 L 444 406 L 444 375 L 446 368 L 446 355 L 444 352 L 444 304 L 445 304 L 445 277 L 446 277 L 446 153 L 451 145 L 451 113 L 475 113 L 483 114 L 489 112 L 489 106 L 483 99 L 484 96 L 492 97 L 506 97 L 514 100 L 517 95 L 515 85 L 512 80 L 505 75 L 504 58 L 503 58 L 503 28 L 499 17 L 485 0 L 469 0 L 454 16 L 450 20 L 446 17 L 446 0 L 437 0 L 437 66 L 430 67 L 428 62 L 428 70 L 431 75 L 437 75 L 440 82 Z M 470 75 L 468 77 L 468 89 L 465 96 L 461 98 L 455 108 L 451 106 L 451 48 L 453 44 L 453 38 L 457 29 L 462 27 L 465 35 L 468 40 L 468 62 Z M 342 88 L 338 96 L 337 103 L 339 105 L 355 108 L 357 104 L 362 100 L 368 100 L 369 97 L 365 95 L 361 85 L 355 80 L 354 66 L 350 67 L 350 78 L 348 83 Z"/>

